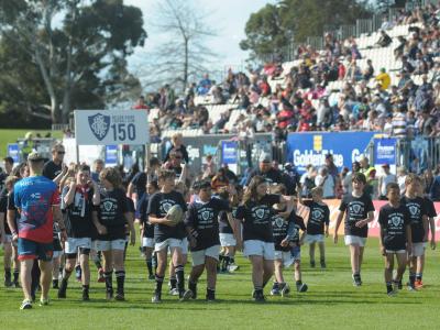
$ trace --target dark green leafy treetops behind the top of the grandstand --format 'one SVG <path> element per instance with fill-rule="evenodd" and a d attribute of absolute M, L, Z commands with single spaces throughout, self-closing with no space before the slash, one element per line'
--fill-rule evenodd
<path fill-rule="evenodd" d="M 307 36 L 322 35 L 324 26 L 354 24 L 370 14 L 365 0 L 279 0 L 251 14 L 240 46 L 251 51 L 251 58 L 264 58 L 293 40 L 305 42 Z"/>

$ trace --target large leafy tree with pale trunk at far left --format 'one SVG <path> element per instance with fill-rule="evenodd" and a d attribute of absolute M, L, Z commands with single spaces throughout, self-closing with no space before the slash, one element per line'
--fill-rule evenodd
<path fill-rule="evenodd" d="M 140 88 L 127 73 L 125 58 L 144 44 L 146 32 L 142 11 L 124 6 L 123 0 L 2 0 L 0 33 L 0 50 L 4 51 L 0 62 L 18 62 L 11 50 L 20 54 L 20 62 L 26 61 L 8 67 L 8 76 L 15 79 L 12 84 L 0 82 L 0 87 L 9 86 L 8 99 L 20 95 L 33 109 L 50 110 L 42 113 L 26 108 L 30 114 L 48 113 L 54 123 L 67 122 L 75 108 L 103 107 L 114 99 L 112 94 L 120 94 L 124 79 Z M 30 70 L 43 87 L 38 98 L 36 91 L 13 90 L 19 86 L 32 89 L 29 74 L 19 75 L 19 68 Z"/>

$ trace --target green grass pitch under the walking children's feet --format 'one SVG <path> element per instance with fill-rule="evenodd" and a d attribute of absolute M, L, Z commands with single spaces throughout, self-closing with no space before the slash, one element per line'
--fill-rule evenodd
<path fill-rule="evenodd" d="M 267 302 L 251 301 L 250 264 L 241 256 L 241 268 L 233 275 L 219 275 L 216 304 L 202 299 L 178 302 L 168 296 L 164 285 L 164 301 L 152 305 L 153 282 L 145 279 L 144 262 L 139 250 L 131 248 L 127 265 L 127 301 L 107 302 L 103 284 L 96 283 L 92 273 L 91 301 L 81 302 L 80 285 L 70 280 L 68 298 L 56 299 L 51 290 L 51 306 L 34 306 L 21 311 L 20 289 L 0 288 L 1 329 L 437 329 L 440 310 L 438 252 L 427 252 L 424 276 L 426 287 L 417 293 L 402 290 L 387 297 L 383 280 L 383 261 L 377 240 L 369 239 L 362 272 L 364 285 L 351 284 L 348 249 L 327 241 L 328 268 L 308 267 L 307 246 L 302 249 L 305 294 L 289 298 L 267 297 Z M 436 264 L 436 265 L 435 265 Z M 95 270 L 95 267 L 94 267 Z M 186 268 L 186 274 L 188 267 Z M 293 284 L 292 271 L 286 278 Z M 407 274 L 405 279 L 407 278 Z M 114 279 L 113 279 L 114 280 Z M 205 296 L 205 275 L 199 283 L 199 296 Z M 265 293 L 268 294 L 268 287 Z M 437 310 L 437 311 L 436 311 Z"/>

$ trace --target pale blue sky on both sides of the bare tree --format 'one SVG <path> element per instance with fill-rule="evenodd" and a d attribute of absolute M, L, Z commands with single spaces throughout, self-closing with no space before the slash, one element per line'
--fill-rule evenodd
<path fill-rule="evenodd" d="M 155 15 L 155 3 L 161 0 L 124 0 L 124 4 L 139 7 L 144 15 L 144 29 L 148 37 L 143 48 L 136 48 L 129 59 L 133 68 L 142 65 L 142 58 L 148 50 L 161 43 L 161 35 L 151 33 L 148 24 L 150 18 Z M 258 11 L 266 3 L 274 3 L 275 0 L 187 0 L 197 1 L 202 6 L 205 12 L 210 13 L 206 23 L 212 25 L 217 36 L 207 42 L 208 46 L 219 55 L 218 66 L 227 68 L 229 66 L 240 66 L 248 58 L 248 53 L 240 50 L 239 43 L 244 35 L 245 23 L 251 13 Z"/>

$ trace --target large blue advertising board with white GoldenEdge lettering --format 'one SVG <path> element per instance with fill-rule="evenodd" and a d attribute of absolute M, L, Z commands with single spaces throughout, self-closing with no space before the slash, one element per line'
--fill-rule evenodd
<path fill-rule="evenodd" d="M 286 160 L 294 163 L 299 173 L 311 164 L 326 165 L 326 155 L 332 154 L 334 165 L 341 170 L 351 168 L 354 161 L 364 154 L 376 132 L 312 132 L 290 133 L 287 136 Z"/>

